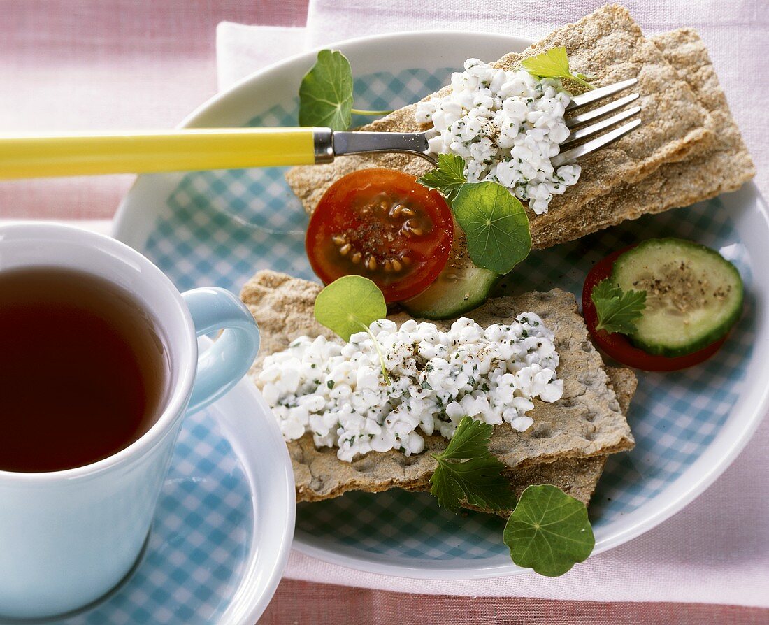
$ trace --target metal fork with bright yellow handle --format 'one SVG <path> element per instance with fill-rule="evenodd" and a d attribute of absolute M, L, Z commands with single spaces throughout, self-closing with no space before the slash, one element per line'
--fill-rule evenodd
<path fill-rule="evenodd" d="M 636 78 L 572 98 L 567 111 L 578 111 L 624 91 Z M 588 155 L 627 135 L 640 119 L 640 106 L 620 111 L 638 98 L 627 95 L 566 121 L 567 148 L 551 158 L 554 167 Z M 606 118 L 609 113 L 619 113 Z M 596 121 L 596 120 L 601 121 Z M 588 122 L 596 123 L 587 125 Z M 611 128 L 611 131 L 601 134 Z M 586 141 L 586 142 L 582 142 Z M 52 176 L 154 173 L 317 165 L 337 156 L 400 152 L 437 165 L 428 153 L 425 132 L 333 131 L 331 128 L 184 128 L 173 131 L 89 135 L 0 136 L 0 180 Z"/>

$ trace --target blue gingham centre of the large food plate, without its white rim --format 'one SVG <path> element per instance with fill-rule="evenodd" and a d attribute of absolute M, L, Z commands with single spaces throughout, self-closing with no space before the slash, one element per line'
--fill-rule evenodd
<path fill-rule="evenodd" d="M 356 79 L 355 101 L 394 108 L 434 91 L 448 69 L 421 69 Z M 276 106 L 251 125 L 295 125 L 296 101 Z M 354 123 L 362 123 L 356 119 Z M 168 197 L 143 251 L 180 289 L 207 284 L 239 291 L 261 268 L 313 278 L 304 251 L 307 218 L 283 179 L 284 170 L 238 170 L 185 176 Z M 536 251 L 500 290 L 581 293 L 584 275 L 605 254 L 644 238 L 674 235 L 719 249 L 740 268 L 750 293 L 747 254 L 718 200 L 647 216 L 547 251 Z M 675 374 L 641 374 L 628 421 L 637 447 L 608 462 L 591 504 L 600 533 L 671 485 L 714 440 L 737 398 L 751 351 L 754 304 L 710 361 Z M 703 383 L 701 380 L 706 380 Z M 509 563 L 504 521 L 454 515 L 426 494 L 392 490 L 353 493 L 298 507 L 297 540 L 358 559 L 393 565 Z"/>

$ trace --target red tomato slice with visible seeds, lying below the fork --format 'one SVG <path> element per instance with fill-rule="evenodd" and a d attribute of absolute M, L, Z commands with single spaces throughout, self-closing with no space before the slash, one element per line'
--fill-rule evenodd
<path fill-rule="evenodd" d="M 310 218 L 305 247 L 325 284 L 371 278 L 385 301 L 414 297 L 438 277 L 454 239 L 438 191 L 391 169 L 361 169 L 336 181 Z"/>

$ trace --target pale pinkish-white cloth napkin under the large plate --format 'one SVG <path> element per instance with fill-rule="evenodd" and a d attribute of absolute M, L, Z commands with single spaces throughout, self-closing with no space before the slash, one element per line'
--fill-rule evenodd
<path fill-rule="evenodd" d="M 220 87 L 278 58 L 341 39 L 420 29 L 501 32 L 538 38 L 601 0 L 310 0 L 298 28 L 219 25 Z M 769 15 L 766 0 L 678 0 L 625 5 L 649 34 L 694 26 L 707 44 L 732 111 L 769 191 Z M 502 11 L 504 10 L 504 14 Z M 482 35 L 479 35 L 482 36 Z M 492 59 L 484 59 L 492 60 Z M 629 543 L 591 557 L 558 579 L 536 575 L 430 581 L 352 571 L 294 551 L 286 577 L 408 593 L 562 600 L 675 601 L 769 607 L 769 420 L 715 484 L 683 511 Z"/>

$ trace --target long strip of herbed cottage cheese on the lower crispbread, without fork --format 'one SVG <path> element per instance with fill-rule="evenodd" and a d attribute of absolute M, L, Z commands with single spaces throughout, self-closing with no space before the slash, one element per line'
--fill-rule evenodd
<path fill-rule="evenodd" d="M 531 313 L 484 329 L 461 318 L 447 332 L 434 324 L 371 324 L 391 384 L 384 383 L 374 341 L 300 337 L 265 358 L 257 385 L 287 440 L 311 431 L 341 460 L 369 451 L 424 450 L 421 433 L 451 438 L 465 415 L 525 431 L 532 399 L 558 401 L 553 333 Z"/>

